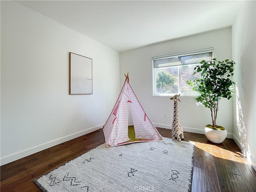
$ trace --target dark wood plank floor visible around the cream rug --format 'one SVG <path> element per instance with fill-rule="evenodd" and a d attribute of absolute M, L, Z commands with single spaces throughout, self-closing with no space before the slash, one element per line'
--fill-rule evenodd
<path fill-rule="evenodd" d="M 158 128 L 164 137 L 171 130 Z M 232 139 L 213 144 L 202 134 L 184 132 L 184 140 L 196 144 L 193 192 L 256 192 L 256 172 Z M 36 154 L 3 165 L 1 192 L 41 192 L 33 180 L 65 162 L 103 144 L 102 130 L 92 132 Z"/>

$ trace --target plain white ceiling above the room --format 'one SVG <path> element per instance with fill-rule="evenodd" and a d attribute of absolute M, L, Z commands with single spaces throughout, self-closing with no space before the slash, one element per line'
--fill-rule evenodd
<path fill-rule="evenodd" d="M 232 26 L 242 1 L 16 1 L 119 52 Z"/>

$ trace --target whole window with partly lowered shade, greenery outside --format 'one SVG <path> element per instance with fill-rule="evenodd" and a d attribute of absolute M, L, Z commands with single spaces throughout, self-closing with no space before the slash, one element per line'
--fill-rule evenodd
<path fill-rule="evenodd" d="M 153 57 L 153 95 L 196 94 L 186 81 L 199 78 L 200 73 L 192 75 L 195 66 L 212 58 L 213 48 Z"/>

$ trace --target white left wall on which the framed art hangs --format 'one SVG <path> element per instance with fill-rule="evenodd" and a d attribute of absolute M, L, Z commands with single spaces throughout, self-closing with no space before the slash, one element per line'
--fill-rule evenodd
<path fill-rule="evenodd" d="M 69 52 L 92 58 L 93 94 L 68 94 Z M 119 80 L 119 52 L 1 1 L 1 164 L 102 128 Z"/>

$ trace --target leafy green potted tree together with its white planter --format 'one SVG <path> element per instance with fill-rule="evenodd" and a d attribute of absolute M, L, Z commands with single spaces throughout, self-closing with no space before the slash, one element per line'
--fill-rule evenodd
<path fill-rule="evenodd" d="M 204 133 L 208 140 L 214 143 L 222 143 L 227 131 L 224 127 L 216 124 L 217 114 L 220 106 L 220 99 L 232 97 L 232 86 L 234 82 L 230 77 L 234 75 L 234 61 L 217 61 L 215 58 L 210 61 L 202 60 L 201 65 L 194 68 L 193 75 L 201 73 L 200 78 L 187 80 L 192 90 L 198 92 L 196 100 L 209 108 L 212 116 L 212 124 L 205 126 Z"/>

